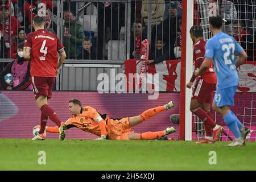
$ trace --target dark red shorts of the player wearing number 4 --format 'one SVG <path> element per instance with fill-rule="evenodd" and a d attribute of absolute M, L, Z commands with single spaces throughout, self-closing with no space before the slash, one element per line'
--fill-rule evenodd
<path fill-rule="evenodd" d="M 39 96 L 46 96 L 48 99 L 52 97 L 52 88 L 55 83 L 55 78 L 49 77 L 34 77 L 32 76 L 33 92 L 35 99 Z"/>

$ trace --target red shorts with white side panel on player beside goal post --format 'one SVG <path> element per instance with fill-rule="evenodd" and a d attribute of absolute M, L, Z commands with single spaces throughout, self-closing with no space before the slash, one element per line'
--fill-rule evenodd
<path fill-rule="evenodd" d="M 201 104 L 209 103 L 212 105 L 215 90 L 216 84 L 208 84 L 203 79 L 196 80 L 191 100 L 197 99 L 197 101 L 199 101 Z"/>

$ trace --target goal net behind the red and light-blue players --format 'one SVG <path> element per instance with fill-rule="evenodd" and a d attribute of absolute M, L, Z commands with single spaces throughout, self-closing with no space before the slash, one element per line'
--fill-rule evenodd
<path fill-rule="evenodd" d="M 204 30 L 204 39 L 212 34 L 209 30 L 209 17 L 221 15 L 225 19 L 222 31 L 234 38 L 249 56 L 246 63 L 238 68 L 240 82 L 234 97 L 236 106 L 231 110 L 242 124 L 251 130 L 247 140 L 256 141 L 256 1 L 254 0 L 195 0 L 194 24 L 200 24 Z M 220 140 L 232 140 L 234 136 L 223 121 L 221 115 L 212 109 L 213 119 L 225 130 Z M 203 122 L 192 116 L 192 140 L 205 138 Z"/>

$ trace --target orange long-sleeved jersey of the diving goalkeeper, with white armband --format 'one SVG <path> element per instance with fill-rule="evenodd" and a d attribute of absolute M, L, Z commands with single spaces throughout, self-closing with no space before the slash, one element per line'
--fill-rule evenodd
<path fill-rule="evenodd" d="M 74 125 L 83 131 L 101 136 L 101 130 L 98 122 L 102 120 L 100 113 L 90 106 L 82 107 L 82 113 L 79 116 L 69 118 L 65 124 Z"/>

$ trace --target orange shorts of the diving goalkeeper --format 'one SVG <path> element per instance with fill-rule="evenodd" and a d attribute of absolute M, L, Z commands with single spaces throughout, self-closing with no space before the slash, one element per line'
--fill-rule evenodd
<path fill-rule="evenodd" d="M 129 140 L 128 133 L 130 132 L 129 118 L 108 119 L 108 137 L 110 140 Z"/>

